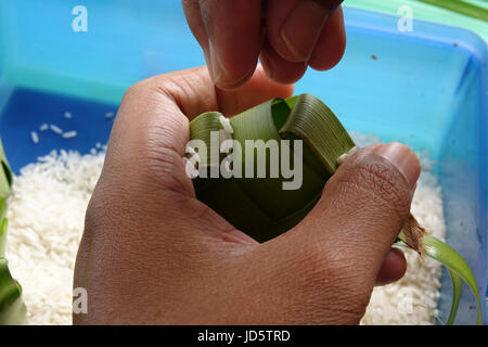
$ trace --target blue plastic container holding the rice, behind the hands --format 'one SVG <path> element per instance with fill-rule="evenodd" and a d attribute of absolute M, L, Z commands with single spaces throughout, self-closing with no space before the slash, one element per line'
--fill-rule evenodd
<path fill-rule="evenodd" d="M 88 31 L 72 30 L 77 1 L 0 2 L 0 136 L 13 169 L 52 149 L 82 153 L 106 142 L 124 91 L 145 77 L 204 64 L 180 1 L 85 0 Z M 309 72 L 296 91 L 325 101 L 350 130 L 425 150 L 444 192 L 447 240 L 472 267 L 487 322 L 487 46 L 459 28 L 346 9 L 339 65 Z M 64 118 L 70 112 L 72 119 Z M 75 139 L 30 131 L 43 124 Z M 476 321 L 465 287 L 457 323 Z M 451 285 L 442 277 L 440 318 Z"/>

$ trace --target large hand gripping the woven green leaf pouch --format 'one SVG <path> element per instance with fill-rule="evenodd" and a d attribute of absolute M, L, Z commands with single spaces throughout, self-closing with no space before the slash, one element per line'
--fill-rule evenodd
<path fill-rule="evenodd" d="M 206 67 L 127 91 L 87 210 L 74 286 L 87 290 L 88 313 L 74 323 L 357 324 L 374 285 L 402 277 L 390 247 L 420 166 L 398 143 L 355 152 L 311 213 L 264 244 L 195 198 L 189 121 L 292 92 L 260 67 L 239 91 L 215 88 Z"/>

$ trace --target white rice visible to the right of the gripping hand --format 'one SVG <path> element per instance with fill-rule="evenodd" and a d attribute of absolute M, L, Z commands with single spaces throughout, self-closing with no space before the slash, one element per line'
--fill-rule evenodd
<path fill-rule="evenodd" d="M 370 134 L 351 132 L 359 146 L 380 142 Z M 411 213 L 426 231 L 445 241 L 442 193 L 437 178 L 432 174 L 433 162 L 427 153 L 418 153 L 422 174 L 416 183 Z M 428 257 L 419 257 L 402 248 L 407 258 L 404 277 L 385 286 L 375 287 L 361 324 L 434 324 L 438 318 L 441 266 Z"/>

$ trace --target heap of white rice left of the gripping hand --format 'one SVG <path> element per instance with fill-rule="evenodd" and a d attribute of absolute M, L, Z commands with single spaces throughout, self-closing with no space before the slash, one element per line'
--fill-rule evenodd
<path fill-rule="evenodd" d="M 73 271 L 104 153 L 52 152 L 22 169 L 9 201 L 7 259 L 27 324 L 70 324 Z"/>

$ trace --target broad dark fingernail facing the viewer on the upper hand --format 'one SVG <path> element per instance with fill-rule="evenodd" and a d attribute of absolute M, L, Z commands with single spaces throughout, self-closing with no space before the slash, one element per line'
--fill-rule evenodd
<path fill-rule="evenodd" d="M 299 2 L 281 28 L 281 37 L 296 62 L 307 62 L 313 53 L 330 11 L 318 2 Z"/>

